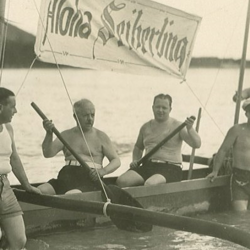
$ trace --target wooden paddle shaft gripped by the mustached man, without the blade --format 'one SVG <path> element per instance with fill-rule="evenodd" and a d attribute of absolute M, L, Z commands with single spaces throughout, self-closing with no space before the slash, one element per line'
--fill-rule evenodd
<path fill-rule="evenodd" d="M 31 103 L 33 109 L 38 113 L 38 115 L 43 119 L 47 120 L 47 116 L 42 112 L 42 110 L 34 103 Z M 83 161 L 83 159 L 72 149 L 72 147 L 63 139 L 61 133 L 56 129 L 52 128 L 52 132 L 57 136 L 57 138 L 62 142 L 62 144 L 70 151 L 70 153 L 76 158 L 76 160 L 84 167 L 88 172 L 90 171 L 89 166 Z"/>

